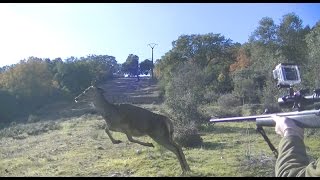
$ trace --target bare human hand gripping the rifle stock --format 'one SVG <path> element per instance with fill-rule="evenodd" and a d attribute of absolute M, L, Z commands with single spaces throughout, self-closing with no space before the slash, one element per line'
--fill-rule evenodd
<path fill-rule="evenodd" d="M 282 137 L 298 136 L 303 139 L 304 129 L 297 126 L 294 121 L 287 117 L 273 115 L 272 119 L 276 122 L 275 131 Z"/>

